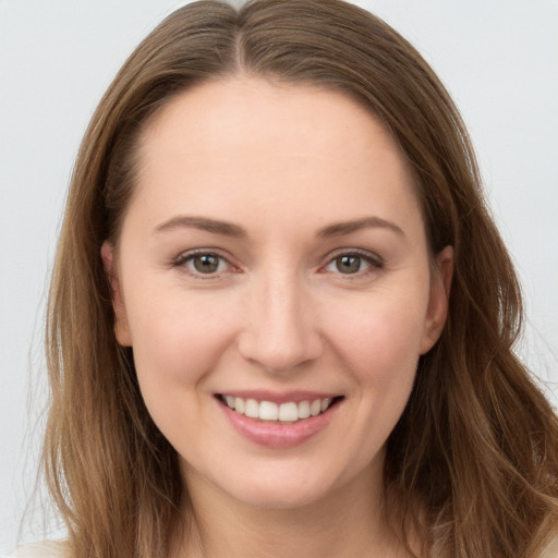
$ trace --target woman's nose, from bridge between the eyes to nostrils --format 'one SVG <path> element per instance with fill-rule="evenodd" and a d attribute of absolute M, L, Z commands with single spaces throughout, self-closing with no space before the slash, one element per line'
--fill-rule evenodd
<path fill-rule="evenodd" d="M 323 340 L 311 296 L 287 274 L 254 280 L 239 336 L 242 356 L 268 372 L 284 373 L 317 359 Z"/>

